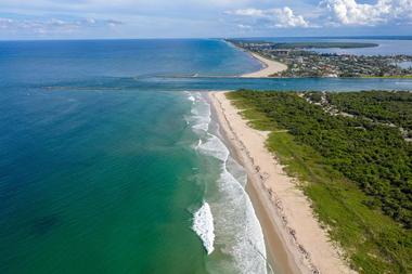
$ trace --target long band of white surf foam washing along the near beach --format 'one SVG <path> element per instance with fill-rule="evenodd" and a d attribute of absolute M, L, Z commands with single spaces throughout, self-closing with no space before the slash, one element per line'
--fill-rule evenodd
<path fill-rule="evenodd" d="M 209 265 L 210 273 L 224 273 L 227 268 L 235 273 L 254 273 L 266 274 L 266 246 L 260 223 L 256 217 L 252 201 L 244 190 L 246 183 L 246 174 L 243 168 L 236 164 L 230 156 L 230 152 L 217 133 L 211 132 L 210 123 L 210 105 L 199 93 L 193 95 L 195 103 L 192 106 L 191 125 L 193 131 L 198 134 L 199 142 L 195 149 L 203 155 L 211 156 L 220 161 L 220 174 L 216 184 L 217 194 L 208 194 L 211 196 L 207 206 L 203 206 L 196 213 L 195 220 L 204 220 L 199 227 L 210 227 L 214 225 L 214 239 L 216 234 L 216 245 L 211 243 L 211 248 L 219 249 L 232 260 L 224 260 L 211 263 Z M 205 125 L 207 122 L 207 126 Z M 201 126 L 202 125 L 202 126 Z M 233 175 L 235 174 L 235 177 Z M 214 188 L 214 187 L 211 187 Z M 209 209 L 203 209 L 208 207 Z M 214 209 L 211 216 L 210 207 Z M 202 210 L 202 211 L 201 211 Z M 209 210 L 210 216 L 199 216 L 198 212 Z M 205 214 L 205 213 L 203 213 Z M 209 220 L 209 224 L 205 224 L 205 220 Z M 193 225 L 194 230 L 194 225 Z M 197 232 L 204 246 L 210 247 L 210 238 L 202 236 L 209 230 L 204 229 Z M 209 251 L 208 251 L 209 253 Z M 217 259 L 214 259 L 217 260 Z M 220 259 L 222 260 L 222 259 Z M 230 271 L 232 273 L 232 271 Z"/>

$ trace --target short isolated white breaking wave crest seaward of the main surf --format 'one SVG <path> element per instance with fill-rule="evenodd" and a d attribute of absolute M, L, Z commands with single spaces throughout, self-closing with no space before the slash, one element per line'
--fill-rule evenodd
<path fill-rule="evenodd" d="M 203 246 L 205 247 L 207 253 L 210 255 L 215 249 L 215 227 L 210 206 L 206 201 L 194 213 L 193 231 L 196 232 L 198 237 L 202 239 Z"/>

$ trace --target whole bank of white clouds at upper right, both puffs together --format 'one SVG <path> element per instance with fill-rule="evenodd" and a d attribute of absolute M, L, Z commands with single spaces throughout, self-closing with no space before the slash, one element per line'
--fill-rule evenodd
<path fill-rule="evenodd" d="M 319 6 L 305 10 L 305 14 L 296 14 L 288 6 L 239 9 L 227 14 L 235 16 L 237 24 L 261 28 L 412 25 L 412 0 L 375 0 L 375 3 L 359 1 L 320 0 Z"/>

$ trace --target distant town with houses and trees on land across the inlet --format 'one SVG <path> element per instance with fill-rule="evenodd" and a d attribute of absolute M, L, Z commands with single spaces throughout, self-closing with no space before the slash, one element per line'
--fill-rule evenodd
<path fill-rule="evenodd" d="M 377 47 L 358 42 L 297 42 L 227 40 L 246 51 L 287 65 L 272 77 L 399 77 L 412 78 L 412 55 L 352 55 L 318 53 L 312 49 Z M 411 64 L 404 66 L 403 64 Z"/>

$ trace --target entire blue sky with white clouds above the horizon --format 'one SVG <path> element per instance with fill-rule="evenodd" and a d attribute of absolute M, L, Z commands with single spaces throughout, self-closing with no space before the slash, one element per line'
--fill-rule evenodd
<path fill-rule="evenodd" d="M 0 0 L 0 39 L 412 35 L 412 0 Z"/>

